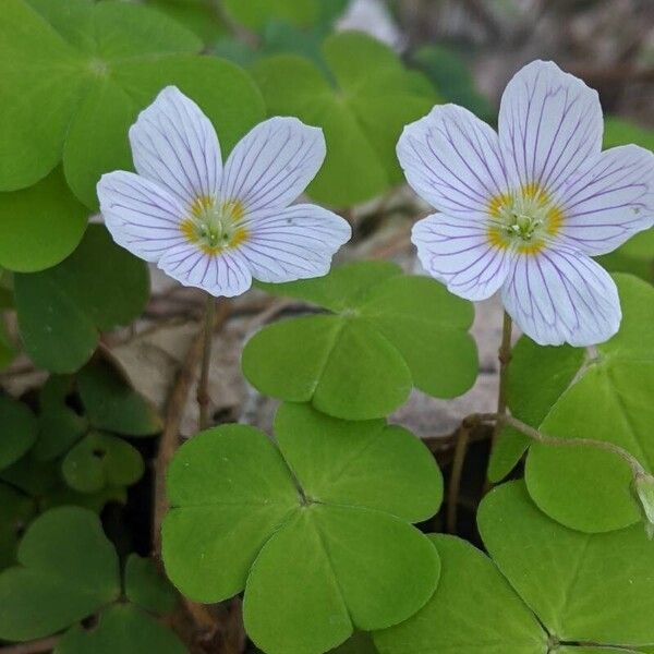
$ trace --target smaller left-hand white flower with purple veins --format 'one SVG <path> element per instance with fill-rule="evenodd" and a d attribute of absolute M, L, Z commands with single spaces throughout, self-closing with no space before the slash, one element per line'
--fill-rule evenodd
<path fill-rule="evenodd" d="M 134 167 L 102 175 L 97 192 L 113 240 L 185 286 L 213 295 L 252 279 L 320 277 L 351 237 L 340 216 L 289 206 L 325 159 L 317 128 L 271 118 L 246 134 L 225 168 L 214 126 L 178 88 L 165 88 L 130 129 Z"/>

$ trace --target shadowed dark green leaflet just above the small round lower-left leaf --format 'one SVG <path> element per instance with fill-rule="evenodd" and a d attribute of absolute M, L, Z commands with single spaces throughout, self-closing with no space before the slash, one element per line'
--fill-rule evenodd
<path fill-rule="evenodd" d="M 85 365 L 77 375 L 77 389 L 88 421 L 98 429 L 124 436 L 152 436 L 161 431 L 156 409 L 108 362 L 96 360 Z"/>

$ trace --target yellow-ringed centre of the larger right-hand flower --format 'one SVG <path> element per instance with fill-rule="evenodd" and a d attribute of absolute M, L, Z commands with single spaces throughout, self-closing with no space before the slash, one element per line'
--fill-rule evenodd
<path fill-rule="evenodd" d="M 488 241 L 496 247 L 514 247 L 521 254 L 536 254 L 555 235 L 562 211 L 536 183 L 501 193 L 488 203 Z"/>

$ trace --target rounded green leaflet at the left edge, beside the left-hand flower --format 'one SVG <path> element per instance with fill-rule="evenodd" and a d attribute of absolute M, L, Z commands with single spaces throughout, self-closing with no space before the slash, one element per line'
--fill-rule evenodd
<path fill-rule="evenodd" d="M 0 193 L 0 266 L 20 272 L 55 266 L 82 240 L 87 215 L 60 168 L 29 189 Z"/>

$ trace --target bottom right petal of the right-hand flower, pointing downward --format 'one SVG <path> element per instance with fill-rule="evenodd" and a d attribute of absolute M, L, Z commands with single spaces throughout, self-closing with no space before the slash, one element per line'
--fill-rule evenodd
<path fill-rule="evenodd" d="M 501 295 L 520 329 L 541 346 L 592 346 L 620 326 L 614 280 L 570 247 L 518 256 Z"/>

